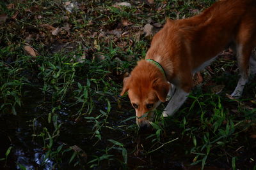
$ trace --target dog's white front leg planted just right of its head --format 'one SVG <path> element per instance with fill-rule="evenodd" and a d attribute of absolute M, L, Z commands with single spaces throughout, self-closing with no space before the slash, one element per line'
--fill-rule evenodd
<path fill-rule="evenodd" d="M 188 98 L 188 94 L 188 92 L 184 92 L 184 90 L 177 88 L 176 92 L 172 96 L 172 99 L 163 111 L 163 117 L 172 116 L 175 111 L 179 110 L 180 106 Z"/>

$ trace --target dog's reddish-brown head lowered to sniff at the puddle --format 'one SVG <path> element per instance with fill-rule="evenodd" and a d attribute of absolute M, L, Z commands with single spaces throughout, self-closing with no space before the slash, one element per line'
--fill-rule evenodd
<path fill-rule="evenodd" d="M 133 108 L 136 110 L 136 122 L 141 127 L 149 125 L 154 117 L 154 109 L 166 100 L 170 83 L 159 69 L 141 60 L 131 75 L 124 78 L 121 96 L 128 92 Z"/>

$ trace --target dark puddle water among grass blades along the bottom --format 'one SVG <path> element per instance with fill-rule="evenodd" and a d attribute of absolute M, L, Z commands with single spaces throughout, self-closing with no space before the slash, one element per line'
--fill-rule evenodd
<path fill-rule="evenodd" d="M 164 129 L 166 131 L 165 139 L 179 138 L 177 139 L 178 142 L 168 143 L 155 152 L 148 154 L 148 151 L 155 150 L 161 146 L 160 144 L 154 145 L 152 138 L 148 138 L 155 131 L 138 132 L 135 119 L 122 122 L 126 118 L 134 116 L 134 113 L 133 111 L 124 112 L 114 102 L 111 103 L 111 111 L 106 123 L 100 128 L 101 140 L 93 136 L 96 128 L 95 123 L 83 117 L 79 119 L 73 117 L 72 115 L 75 115 L 77 111 L 76 106 L 68 108 L 65 106 L 67 103 L 63 103 L 61 109 L 56 111 L 58 124 L 62 125 L 60 136 L 54 138 L 52 149 L 56 150 L 61 145 L 63 145 L 63 150 L 72 149 L 65 155 L 58 155 L 54 159 L 44 160 L 47 154 L 44 140 L 42 137 L 33 136 L 33 134 L 38 135 L 40 132 L 44 132 L 44 127 L 47 127 L 49 132 L 54 131 L 54 125 L 48 123 L 48 115 L 51 113 L 52 106 L 49 103 L 45 103 L 43 99 L 43 96 L 33 92 L 31 96 L 26 97 L 24 107 L 17 110 L 17 116 L 2 115 L 0 117 L 0 159 L 4 158 L 6 150 L 10 146 L 12 147 L 8 159 L 0 161 L 0 169 L 20 169 L 19 164 L 26 169 L 89 169 L 92 164 L 86 163 L 95 159 L 95 157 L 104 155 L 108 148 L 113 147 L 113 143 L 109 142 L 109 139 L 115 139 L 126 148 L 128 169 L 200 169 L 200 164 L 199 166 L 189 165 L 195 157 L 195 155 L 188 153 L 190 148 L 193 147 L 193 142 L 189 137 L 187 139 L 186 136 L 181 135 L 182 130 L 180 127 Z M 129 110 L 131 106 L 124 105 L 122 108 Z M 107 108 L 104 104 L 99 103 L 97 110 L 93 111 L 89 116 L 97 117 L 100 114 L 99 110 L 107 110 Z M 102 120 L 99 119 L 100 121 Z M 172 131 L 175 131 L 175 133 L 172 134 Z M 252 148 L 255 148 L 255 144 L 252 143 L 252 145 L 254 145 Z M 237 160 L 237 164 L 241 164 L 241 167 L 243 167 L 243 163 L 250 161 L 248 157 L 254 158 L 256 153 L 253 150 L 248 152 L 248 148 L 245 147 L 243 148 L 243 153 L 241 153 L 242 156 L 239 156 L 244 160 Z M 115 146 L 109 150 L 108 154 L 113 156 L 110 159 L 100 160 L 99 166 L 95 166 L 92 169 L 124 168 L 124 157 L 120 148 L 122 149 L 122 147 Z M 74 164 L 68 164 L 74 150 L 81 151 L 82 155 L 79 156 L 79 162 L 75 167 L 73 166 Z M 249 156 L 246 156 L 246 153 Z M 76 161 L 77 157 L 72 163 Z M 230 164 L 222 163 L 225 160 L 216 161 L 209 159 L 208 165 L 212 166 L 207 166 L 205 169 L 230 168 Z M 249 164 L 248 167 L 251 167 L 250 162 Z"/>

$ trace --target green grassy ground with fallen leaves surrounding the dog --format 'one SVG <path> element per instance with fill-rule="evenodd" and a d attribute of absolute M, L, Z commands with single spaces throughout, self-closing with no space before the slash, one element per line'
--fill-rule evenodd
<path fill-rule="evenodd" d="M 71 13 L 64 1 L 0 3 L 0 15 L 8 17 L 0 21 L 1 136 L 8 141 L 1 150 L 1 165 L 255 169 L 256 82 L 246 85 L 238 101 L 225 96 L 238 78 L 232 55 L 201 72 L 204 81 L 175 117 L 162 118 L 166 104 L 161 104 L 151 123 L 154 130 L 138 130 L 129 99 L 119 94 L 125 74 L 150 46 L 152 37 L 143 36 L 141 29 L 148 23 L 163 25 L 167 17 L 195 15 L 214 1 L 128 2 L 131 7 L 77 1 Z M 54 33 L 56 28 L 61 31 Z M 25 45 L 34 49 L 35 57 Z M 223 86 L 216 95 L 212 89 L 218 85 Z M 12 128 L 22 132 L 9 133 L 8 122 L 18 120 Z M 29 162 L 17 159 L 20 145 Z"/>

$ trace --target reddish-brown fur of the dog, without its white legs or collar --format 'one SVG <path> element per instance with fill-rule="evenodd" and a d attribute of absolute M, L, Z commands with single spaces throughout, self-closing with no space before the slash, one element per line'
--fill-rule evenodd
<path fill-rule="evenodd" d="M 193 87 L 193 71 L 228 46 L 243 55 L 238 64 L 241 74 L 248 76 L 248 61 L 256 46 L 255 0 L 218 1 L 195 17 L 167 20 L 152 39 L 146 59 L 159 62 L 166 71 L 167 80 L 189 92 Z M 162 87 L 158 91 L 152 89 L 152 82 L 157 78 L 161 84 L 159 87 Z M 136 98 L 141 104 L 148 94 L 152 94 L 156 101 L 157 94 L 166 97 L 163 94 L 167 94 L 168 85 L 164 75 L 146 60 L 138 62 L 127 80 L 121 95 L 131 90 L 130 99 Z M 143 115 L 145 111 L 138 112 Z"/>

